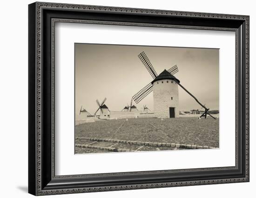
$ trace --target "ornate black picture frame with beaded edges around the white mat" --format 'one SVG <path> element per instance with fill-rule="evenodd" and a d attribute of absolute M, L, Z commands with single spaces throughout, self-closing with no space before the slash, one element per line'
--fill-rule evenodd
<path fill-rule="evenodd" d="M 28 6 L 28 192 L 33 195 L 249 182 L 249 16 L 35 2 Z M 55 176 L 54 24 L 92 23 L 236 33 L 236 165 Z"/>

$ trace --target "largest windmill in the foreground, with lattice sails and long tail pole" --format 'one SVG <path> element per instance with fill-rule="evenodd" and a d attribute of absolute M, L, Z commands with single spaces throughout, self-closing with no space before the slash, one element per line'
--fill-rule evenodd
<path fill-rule="evenodd" d="M 143 63 L 143 65 L 148 70 L 149 74 L 152 76 L 153 81 L 148 85 L 143 87 L 139 92 L 137 92 L 132 99 L 134 99 L 135 103 L 138 104 L 142 99 L 144 99 L 150 92 L 153 91 L 154 98 L 154 112 L 158 118 L 174 118 L 179 116 L 179 94 L 178 87 L 179 85 L 185 92 L 187 92 L 195 101 L 204 108 L 204 113 L 202 116 L 206 118 L 207 114 L 214 118 L 209 114 L 209 108 L 202 105 L 194 95 L 192 95 L 184 86 L 180 84 L 180 81 L 175 78 L 174 74 L 177 73 L 178 67 L 177 65 L 171 67 L 168 70 L 164 70 L 162 73 L 157 75 L 154 67 L 150 63 L 147 55 L 142 52 L 138 55 L 139 59 Z M 202 117 L 201 116 L 201 117 Z M 216 118 L 214 118 L 216 119 Z"/>

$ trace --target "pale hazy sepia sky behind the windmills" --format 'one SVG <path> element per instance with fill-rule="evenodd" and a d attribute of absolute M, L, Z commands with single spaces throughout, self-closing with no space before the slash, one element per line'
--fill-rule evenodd
<path fill-rule="evenodd" d="M 131 97 L 153 79 L 138 58 L 144 51 L 157 74 L 177 65 L 180 80 L 203 105 L 219 109 L 219 49 L 75 44 L 75 113 L 81 105 L 91 114 L 97 110 L 96 99 L 110 111 L 121 111 Z M 135 102 L 134 102 L 135 104 Z M 153 92 L 140 103 L 153 110 Z M 179 87 L 180 111 L 201 109 L 195 100 Z"/>

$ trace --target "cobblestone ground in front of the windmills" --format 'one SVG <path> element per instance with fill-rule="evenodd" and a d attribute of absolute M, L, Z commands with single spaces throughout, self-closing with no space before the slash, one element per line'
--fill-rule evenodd
<path fill-rule="evenodd" d="M 219 119 L 174 118 L 161 120 L 155 118 L 140 118 L 128 120 L 100 120 L 94 123 L 76 125 L 75 138 L 109 140 L 108 142 L 104 142 L 76 139 L 76 145 L 89 145 L 90 148 L 76 146 L 75 153 L 113 152 L 103 150 L 103 147 L 116 148 L 119 150 L 129 149 L 133 151 L 184 149 L 182 147 L 155 145 L 129 145 L 121 142 L 110 142 L 111 140 L 219 147 Z"/>

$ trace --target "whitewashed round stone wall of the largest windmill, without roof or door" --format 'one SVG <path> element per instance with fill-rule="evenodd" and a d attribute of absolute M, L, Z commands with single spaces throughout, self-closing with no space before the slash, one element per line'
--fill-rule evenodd
<path fill-rule="evenodd" d="M 168 82 L 167 82 L 168 81 Z M 163 82 L 163 83 L 162 83 Z M 169 118 L 169 107 L 175 107 L 175 118 L 179 117 L 179 90 L 174 80 L 164 79 L 153 83 L 154 113 L 157 118 Z M 173 97 L 173 99 L 171 99 Z"/>

